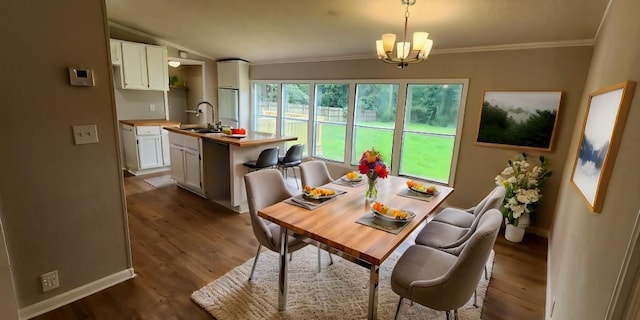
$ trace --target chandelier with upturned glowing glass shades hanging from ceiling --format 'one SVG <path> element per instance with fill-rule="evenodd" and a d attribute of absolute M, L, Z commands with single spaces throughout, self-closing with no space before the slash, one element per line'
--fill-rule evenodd
<path fill-rule="evenodd" d="M 396 35 L 393 33 L 385 33 L 382 40 L 376 41 L 376 51 L 378 59 L 385 63 L 397 64 L 398 68 L 404 69 L 409 64 L 424 61 L 431 52 L 433 40 L 428 39 L 427 32 L 414 32 L 413 42 L 407 41 L 407 24 L 409 22 L 409 6 L 416 4 L 416 0 L 400 0 L 403 5 L 407 6 L 404 12 L 404 34 L 402 42 L 396 44 L 396 53 L 393 54 L 393 46 L 396 42 Z M 413 46 L 412 46 L 413 45 Z"/>

